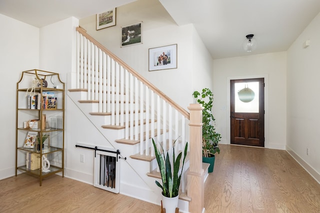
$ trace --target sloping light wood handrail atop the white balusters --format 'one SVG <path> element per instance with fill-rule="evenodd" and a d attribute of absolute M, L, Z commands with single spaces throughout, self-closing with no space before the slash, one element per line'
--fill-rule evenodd
<path fill-rule="evenodd" d="M 103 52 L 105 52 L 107 55 L 109 55 L 111 58 L 113 58 L 114 61 L 119 63 L 121 66 L 123 66 L 126 70 L 128 70 L 128 72 L 130 72 L 133 76 L 135 76 L 137 79 L 139 79 L 143 84 L 147 85 L 148 88 L 150 88 L 152 91 L 154 91 L 158 96 L 160 96 L 163 100 L 165 100 L 167 103 L 169 103 L 174 109 L 179 111 L 185 118 L 187 118 L 189 120 L 189 113 L 185 109 L 183 109 L 181 106 L 179 106 L 177 103 L 175 103 L 172 99 L 170 99 L 168 96 L 166 96 L 163 92 L 161 92 L 153 84 L 151 84 L 149 81 L 147 81 L 139 73 L 137 73 L 130 66 L 128 66 L 126 63 L 124 63 L 120 58 L 118 58 L 116 55 L 114 55 L 112 52 L 110 52 L 107 48 L 105 48 L 102 44 L 100 44 L 97 40 L 95 40 L 93 37 L 91 37 L 89 34 L 87 34 L 85 29 L 83 29 L 82 27 L 76 27 L 76 31 L 81 33 L 84 37 L 86 37 L 86 39 L 91 41 L 94 45 L 96 45 L 98 48 L 100 48 Z"/>

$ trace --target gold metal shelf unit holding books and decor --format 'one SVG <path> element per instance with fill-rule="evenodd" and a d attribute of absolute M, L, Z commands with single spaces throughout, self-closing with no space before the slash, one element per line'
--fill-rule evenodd
<path fill-rule="evenodd" d="M 15 176 L 64 177 L 64 93 L 59 74 L 22 71 L 16 83 Z"/>

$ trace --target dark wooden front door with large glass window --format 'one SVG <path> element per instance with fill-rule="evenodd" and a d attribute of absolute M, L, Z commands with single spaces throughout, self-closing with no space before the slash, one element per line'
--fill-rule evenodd
<path fill-rule="evenodd" d="M 240 96 L 245 88 L 255 92 Z M 264 78 L 230 80 L 230 122 L 231 144 L 264 147 Z"/>

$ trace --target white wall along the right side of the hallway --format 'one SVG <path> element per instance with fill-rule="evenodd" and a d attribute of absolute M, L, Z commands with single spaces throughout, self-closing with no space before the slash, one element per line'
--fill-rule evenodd
<path fill-rule="evenodd" d="M 287 150 L 320 182 L 320 14 L 287 51 Z M 309 39 L 310 46 L 303 48 Z M 309 156 L 306 149 L 309 148 Z"/>

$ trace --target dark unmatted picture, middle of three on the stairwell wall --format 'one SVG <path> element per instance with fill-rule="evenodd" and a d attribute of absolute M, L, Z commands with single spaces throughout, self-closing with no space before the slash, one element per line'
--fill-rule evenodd
<path fill-rule="evenodd" d="M 121 47 L 142 43 L 141 23 L 121 27 Z"/>

